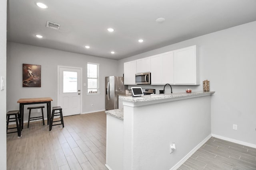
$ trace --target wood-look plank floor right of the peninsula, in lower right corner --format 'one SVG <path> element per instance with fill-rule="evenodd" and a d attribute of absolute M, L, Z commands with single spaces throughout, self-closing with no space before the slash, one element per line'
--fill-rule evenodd
<path fill-rule="evenodd" d="M 211 137 L 178 170 L 256 170 L 256 149 Z"/>

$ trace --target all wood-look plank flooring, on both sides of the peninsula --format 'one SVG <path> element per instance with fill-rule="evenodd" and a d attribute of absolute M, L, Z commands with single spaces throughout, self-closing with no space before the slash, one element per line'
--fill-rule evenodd
<path fill-rule="evenodd" d="M 21 138 L 7 134 L 7 170 L 107 170 L 104 111 L 64 117 L 64 125 L 49 131 L 36 121 Z M 178 170 L 256 170 L 256 149 L 212 137 Z"/>

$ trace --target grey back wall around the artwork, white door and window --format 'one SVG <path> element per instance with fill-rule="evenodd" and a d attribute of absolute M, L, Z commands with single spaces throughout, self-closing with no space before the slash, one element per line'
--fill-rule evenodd
<path fill-rule="evenodd" d="M 7 109 L 19 109 L 17 101 L 20 98 L 36 97 L 51 97 L 52 106 L 57 106 L 57 66 L 82 67 L 82 84 L 87 84 L 87 62 L 100 64 L 100 95 L 86 95 L 87 86 L 82 86 L 83 113 L 105 109 L 105 76 L 115 76 L 116 60 L 8 42 Z M 22 88 L 22 64 L 41 65 L 41 88 Z M 28 110 L 25 107 L 24 120 L 27 119 Z"/>

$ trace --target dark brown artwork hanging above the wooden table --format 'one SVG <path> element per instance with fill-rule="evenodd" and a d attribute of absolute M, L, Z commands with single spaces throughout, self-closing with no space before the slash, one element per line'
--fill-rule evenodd
<path fill-rule="evenodd" d="M 22 65 L 22 87 L 41 87 L 41 65 Z"/>

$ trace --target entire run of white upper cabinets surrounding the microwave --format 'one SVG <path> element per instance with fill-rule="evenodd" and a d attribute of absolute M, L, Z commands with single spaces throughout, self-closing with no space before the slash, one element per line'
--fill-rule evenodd
<path fill-rule="evenodd" d="M 196 45 L 124 63 L 124 84 L 135 84 L 135 74 L 151 72 L 152 85 L 200 84 L 200 58 Z"/>

